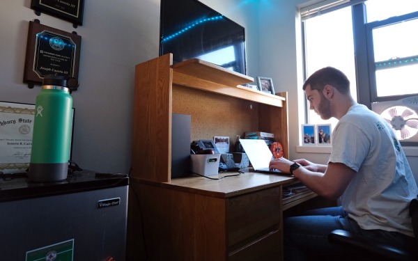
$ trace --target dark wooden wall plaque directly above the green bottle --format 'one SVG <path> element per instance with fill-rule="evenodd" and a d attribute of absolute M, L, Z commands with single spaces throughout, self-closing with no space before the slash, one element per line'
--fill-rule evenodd
<path fill-rule="evenodd" d="M 78 79 L 82 37 L 29 21 L 23 81 L 42 85 L 44 75 Z"/>

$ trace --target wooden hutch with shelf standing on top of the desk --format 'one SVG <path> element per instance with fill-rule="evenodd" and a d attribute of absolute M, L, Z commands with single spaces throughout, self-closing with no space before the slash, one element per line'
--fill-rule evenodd
<path fill-rule="evenodd" d="M 132 177 L 171 180 L 172 113 L 192 116 L 192 140 L 270 132 L 288 157 L 287 93 L 240 86 L 252 80 L 199 59 L 173 65 L 172 54 L 136 65 Z"/>

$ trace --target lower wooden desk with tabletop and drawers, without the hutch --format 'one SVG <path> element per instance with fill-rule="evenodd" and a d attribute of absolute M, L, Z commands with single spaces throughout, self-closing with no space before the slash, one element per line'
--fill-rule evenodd
<path fill-rule="evenodd" d="M 282 187 L 295 178 L 261 173 L 131 182 L 148 260 L 281 260 L 283 210 L 316 196 L 284 202 Z"/>

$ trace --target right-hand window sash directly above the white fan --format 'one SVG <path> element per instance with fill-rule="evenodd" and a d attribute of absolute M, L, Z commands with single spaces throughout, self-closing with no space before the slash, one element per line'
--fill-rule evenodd
<path fill-rule="evenodd" d="M 417 93 L 417 18 L 418 12 L 366 24 L 371 102 Z"/>

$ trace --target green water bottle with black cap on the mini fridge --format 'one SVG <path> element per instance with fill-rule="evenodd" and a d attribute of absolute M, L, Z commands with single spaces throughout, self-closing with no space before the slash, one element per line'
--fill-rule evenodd
<path fill-rule="evenodd" d="M 67 79 L 45 75 L 36 97 L 29 180 L 58 182 L 68 173 L 72 97 Z"/>

